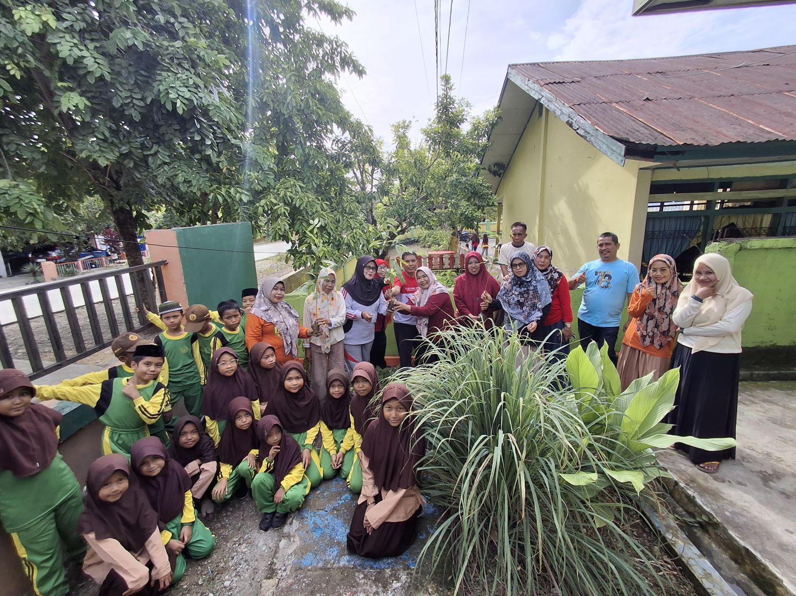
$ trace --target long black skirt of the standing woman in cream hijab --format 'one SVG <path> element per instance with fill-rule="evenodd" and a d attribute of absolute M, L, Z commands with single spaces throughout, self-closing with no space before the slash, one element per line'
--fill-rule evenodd
<path fill-rule="evenodd" d="M 716 354 L 677 344 L 672 368 L 680 367 L 680 385 L 674 397 L 674 409 L 666 422 L 672 432 L 697 439 L 736 438 L 738 417 L 738 375 L 740 354 Z M 677 443 L 694 463 L 736 459 L 736 449 L 705 451 Z"/>

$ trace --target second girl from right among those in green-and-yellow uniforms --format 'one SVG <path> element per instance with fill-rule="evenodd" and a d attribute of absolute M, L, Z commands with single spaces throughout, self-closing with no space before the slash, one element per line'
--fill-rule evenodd
<path fill-rule="evenodd" d="M 335 474 L 348 480 L 357 457 L 354 443 L 356 431 L 351 422 L 351 395 L 348 373 L 333 369 L 326 374 L 326 399 L 321 402 L 321 466 L 323 479 L 330 480 Z"/>

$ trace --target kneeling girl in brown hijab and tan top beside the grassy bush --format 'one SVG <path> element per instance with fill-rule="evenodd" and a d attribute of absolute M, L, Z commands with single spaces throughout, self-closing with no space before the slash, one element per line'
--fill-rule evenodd
<path fill-rule="evenodd" d="M 424 501 L 416 472 L 426 448 L 411 411 L 406 386 L 390 383 L 381 397 L 379 417 L 362 441 L 362 493 L 347 546 L 369 559 L 402 555 L 417 537 Z"/>

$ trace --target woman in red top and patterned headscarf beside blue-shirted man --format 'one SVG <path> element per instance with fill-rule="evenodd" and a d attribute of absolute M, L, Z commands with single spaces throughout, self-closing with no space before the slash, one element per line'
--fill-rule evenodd
<path fill-rule="evenodd" d="M 567 277 L 552 265 L 552 248 L 549 246 L 543 245 L 533 251 L 533 263 L 550 284 L 552 297 L 550 312 L 542 321 L 541 335 L 548 338 L 544 341 L 544 351 L 552 352 L 554 358 L 567 358 L 572 338 L 572 300 Z"/>

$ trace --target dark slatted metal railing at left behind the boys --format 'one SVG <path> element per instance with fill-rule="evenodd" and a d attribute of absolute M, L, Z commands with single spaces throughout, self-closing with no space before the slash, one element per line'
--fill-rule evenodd
<path fill-rule="evenodd" d="M 166 300 L 161 268 L 167 262 L 88 273 L 0 292 L 0 364 L 6 369 L 15 368 L 9 343 L 12 334 L 24 345 L 29 377 L 35 379 L 110 346 L 121 333 L 142 330 L 149 324 L 142 306 Z M 130 296 L 139 312 L 131 308 Z M 104 324 L 97 312 L 98 304 L 105 315 Z M 61 339 L 64 327 L 68 327 L 72 346 Z M 42 359 L 43 352 L 52 354 L 50 362 Z"/>

